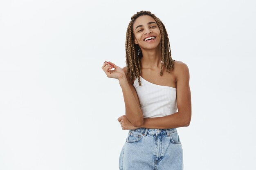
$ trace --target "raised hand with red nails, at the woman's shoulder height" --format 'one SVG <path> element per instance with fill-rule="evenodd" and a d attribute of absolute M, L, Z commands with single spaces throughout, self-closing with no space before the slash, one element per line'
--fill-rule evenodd
<path fill-rule="evenodd" d="M 110 77 L 110 78 L 119 79 L 123 76 L 126 76 L 126 74 L 124 73 L 124 70 L 112 62 L 105 61 L 101 68 L 106 73 L 107 77 Z M 115 68 L 115 70 L 111 70 L 112 68 Z"/>

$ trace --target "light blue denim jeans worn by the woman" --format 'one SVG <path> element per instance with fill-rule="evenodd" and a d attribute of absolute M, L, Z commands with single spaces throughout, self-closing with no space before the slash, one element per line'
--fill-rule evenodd
<path fill-rule="evenodd" d="M 177 129 L 129 130 L 119 156 L 119 170 L 183 170 Z"/>

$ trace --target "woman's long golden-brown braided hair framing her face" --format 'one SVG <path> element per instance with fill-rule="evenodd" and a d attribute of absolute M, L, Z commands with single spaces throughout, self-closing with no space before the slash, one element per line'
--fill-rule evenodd
<path fill-rule="evenodd" d="M 171 57 L 171 47 L 170 42 L 168 38 L 167 31 L 165 29 L 164 24 L 162 23 L 159 18 L 155 16 L 155 14 L 151 13 L 150 11 L 140 11 L 134 14 L 131 17 L 131 21 L 128 25 L 127 31 L 126 31 L 126 68 L 127 73 L 130 73 L 130 81 L 132 79 L 138 78 L 139 80 L 139 86 L 141 86 L 140 81 L 140 74 L 141 74 L 141 58 L 142 58 L 142 51 L 139 48 L 138 44 L 134 44 L 134 36 L 132 33 L 132 25 L 135 22 L 135 20 L 141 16 L 141 15 L 149 15 L 157 22 L 157 26 L 159 27 L 160 33 L 161 33 L 161 48 L 162 48 L 162 56 L 161 56 L 161 69 L 160 69 L 160 75 L 163 75 L 163 66 L 166 67 L 166 72 L 170 72 L 170 69 L 174 68 L 173 62 L 175 60 Z M 139 52 L 139 53 L 138 53 Z"/>

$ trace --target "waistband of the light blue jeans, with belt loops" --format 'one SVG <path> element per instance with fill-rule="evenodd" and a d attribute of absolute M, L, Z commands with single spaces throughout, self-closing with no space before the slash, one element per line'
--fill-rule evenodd
<path fill-rule="evenodd" d="M 171 133 L 177 132 L 176 128 L 171 128 L 171 129 L 148 129 L 148 128 L 137 128 L 134 130 L 129 130 L 130 131 L 135 131 L 142 133 L 142 135 L 152 135 L 152 136 L 161 136 L 161 135 L 167 135 L 170 136 Z"/>

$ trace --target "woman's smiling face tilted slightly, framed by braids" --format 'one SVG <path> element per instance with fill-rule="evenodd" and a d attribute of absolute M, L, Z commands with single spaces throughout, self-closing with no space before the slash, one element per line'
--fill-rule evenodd
<path fill-rule="evenodd" d="M 160 44 L 160 30 L 154 18 L 149 15 L 139 16 L 133 23 L 132 31 L 134 43 L 138 44 L 141 49 L 155 49 Z"/>

